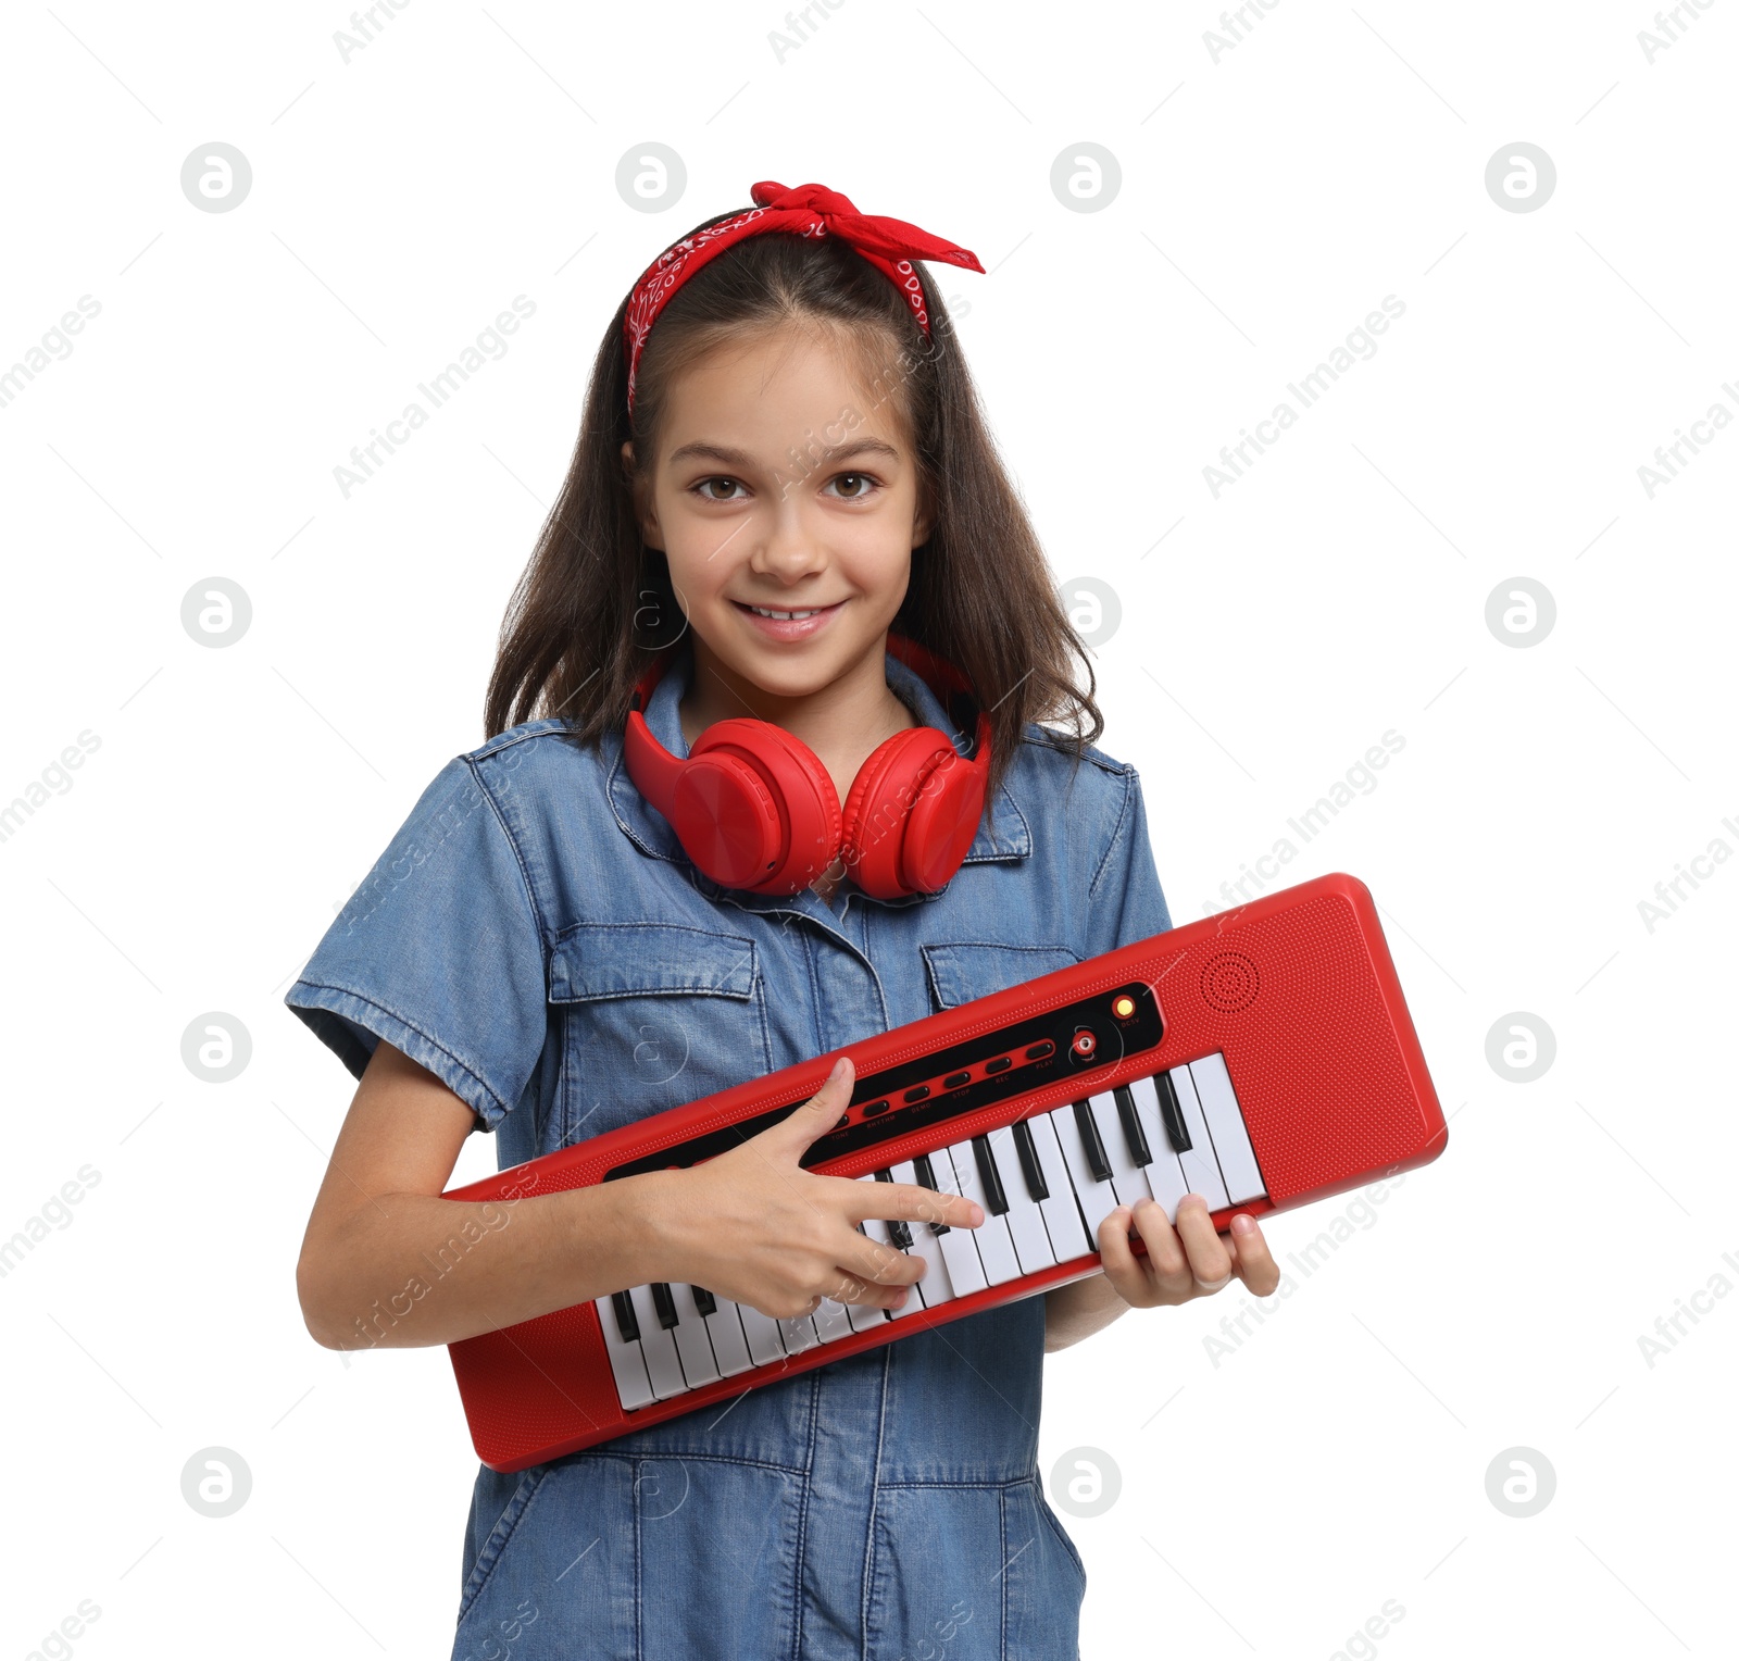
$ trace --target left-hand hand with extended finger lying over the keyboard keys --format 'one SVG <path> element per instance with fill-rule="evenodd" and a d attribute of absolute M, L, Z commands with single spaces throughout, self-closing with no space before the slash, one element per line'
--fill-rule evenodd
<path fill-rule="evenodd" d="M 798 1158 L 852 1097 L 852 1063 L 779 1124 L 687 1171 L 661 1171 L 652 1212 L 666 1280 L 706 1287 L 763 1315 L 812 1313 L 823 1297 L 897 1310 L 923 1259 L 857 1231 L 864 1217 L 977 1228 L 974 1200 L 911 1183 L 817 1176 Z"/>

